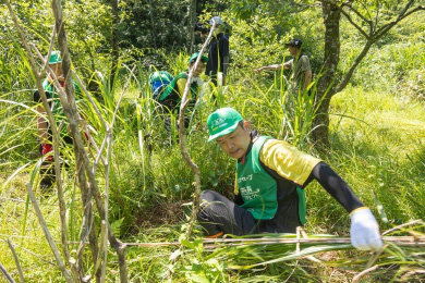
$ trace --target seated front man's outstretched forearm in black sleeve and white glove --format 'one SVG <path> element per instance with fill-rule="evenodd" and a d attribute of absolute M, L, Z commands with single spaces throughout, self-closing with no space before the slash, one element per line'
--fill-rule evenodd
<path fill-rule="evenodd" d="M 379 250 L 382 247 L 382 241 L 378 223 L 371 209 L 359 200 L 349 185 L 325 162 L 319 162 L 313 168 L 304 186 L 313 179 L 317 180 L 350 213 L 351 244 L 361 250 Z"/>

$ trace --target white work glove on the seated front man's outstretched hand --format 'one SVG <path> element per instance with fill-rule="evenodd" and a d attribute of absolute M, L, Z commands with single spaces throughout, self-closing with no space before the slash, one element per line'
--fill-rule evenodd
<path fill-rule="evenodd" d="M 371 209 L 362 208 L 350 216 L 351 218 L 351 244 L 361 250 L 373 249 L 378 251 L 382 247 L 378 222 Z"/>

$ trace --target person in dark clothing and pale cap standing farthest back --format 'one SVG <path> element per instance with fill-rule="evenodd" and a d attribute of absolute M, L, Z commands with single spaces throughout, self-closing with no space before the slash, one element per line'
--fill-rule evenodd
<path fill-rule="evenodd" d="M 212 84 L 217 86 L 217 79 L 221 85 L 226 84 L 229 66 L 229 38 L 221 30 L 223 25 L 221 17 L 214 16 L 209 24 L 212 25 L 214 23 L 216 23 L 216 27 L 209 42 L 209 60 L 205 73 L 211 78 Z"/>

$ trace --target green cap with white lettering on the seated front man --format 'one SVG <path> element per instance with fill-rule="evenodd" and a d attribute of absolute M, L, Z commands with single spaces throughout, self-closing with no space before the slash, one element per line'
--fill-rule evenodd
<path fill-rule="evenodd" d="M 233 108 L 220 108 L 208 116 L 209 138 L 208 143 L 236 130 L 242 115 Z"/>

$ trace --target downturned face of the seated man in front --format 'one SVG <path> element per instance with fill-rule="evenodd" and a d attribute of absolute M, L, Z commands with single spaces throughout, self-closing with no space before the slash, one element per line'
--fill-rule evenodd
<path fill-rule="evenodd" d="M 224 152 L 234 159 L 240 159 L 245 156 L 251 143 L 251 130 L 248 122 L 243 122 L 244 127 L 238 125 L 232 133 L 221 136 L 216 139 Z"/>

